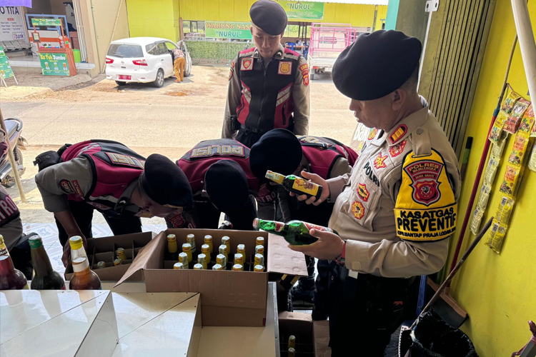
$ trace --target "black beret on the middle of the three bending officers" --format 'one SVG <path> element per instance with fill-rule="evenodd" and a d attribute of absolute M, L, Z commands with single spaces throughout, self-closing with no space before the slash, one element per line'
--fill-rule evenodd
<path fill-rule="evenodd" d="M 210 201 L 222 212 L 237 211 L 249 199 L 246 173 L 232 160 L 212 164 L 204 174 L 204 181 Z"/>

